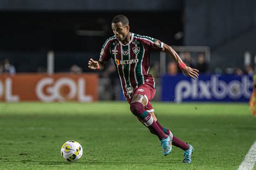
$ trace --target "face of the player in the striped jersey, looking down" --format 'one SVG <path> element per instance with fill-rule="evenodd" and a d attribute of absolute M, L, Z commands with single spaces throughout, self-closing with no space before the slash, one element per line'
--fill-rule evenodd
<path fill-rule="evenodd" d="M 114 36 L 117 37 L 117 40 L 123 41 L 127 37 L 129 33 L 130 26 L 123 25 L 121 22 L 120 23 L 112 23 L 112 30 L 114 33 Z"/>

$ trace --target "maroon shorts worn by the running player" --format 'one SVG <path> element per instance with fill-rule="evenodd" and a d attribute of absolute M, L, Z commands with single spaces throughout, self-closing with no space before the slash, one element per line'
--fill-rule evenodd
<path fill-rule="evenodd" d="M 137 89 L 134 89 L 132 93 L 132 97 L 130 99 L 126 98 L 129 104 L 131 104 L 134 94 L 142 94 L 147 99 L 147 103 L 145 106 L 146 111 L 154 112 L 154 109 L 150 101 L 153 99 L 154 94 L 156 94 L 156 89 L 154 89 L 152 83 L 146 82 L 145 84 L 140 85 Z"/>

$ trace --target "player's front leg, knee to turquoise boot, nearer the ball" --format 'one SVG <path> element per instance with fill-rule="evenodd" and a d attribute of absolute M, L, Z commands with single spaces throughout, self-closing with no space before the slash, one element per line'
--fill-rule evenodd
<path fill-rule="evenodd" d="M 147 97 L 143 96 L 143 94 L 134 94 L 130 105 L 131 112 L 149 128 L 151 133 L 157 135 L 163 147 L 163 154 L 167 155 L 172 149 L 170 137 L 160 129 L 151 114 L 145 110 L 146 104 Z"/>

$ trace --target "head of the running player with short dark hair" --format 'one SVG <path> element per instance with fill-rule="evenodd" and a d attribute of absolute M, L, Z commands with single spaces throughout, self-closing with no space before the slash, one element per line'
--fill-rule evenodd
<path fill-rule="evenodd" d="M 129 20 L 124 15 L 117 15 L 112 19 L 112 30 L 118 40 L 124 40 L 130 33 Z"/>

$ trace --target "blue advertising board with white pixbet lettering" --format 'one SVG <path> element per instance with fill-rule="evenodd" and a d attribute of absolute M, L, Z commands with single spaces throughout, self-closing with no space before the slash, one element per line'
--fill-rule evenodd
<path fill-rule="evenodd" d="M 162 101 L 249 101 L 252 76 L 213 74 L 194 80 L 180 74 L 161 77 L 161 85 Z"/>

